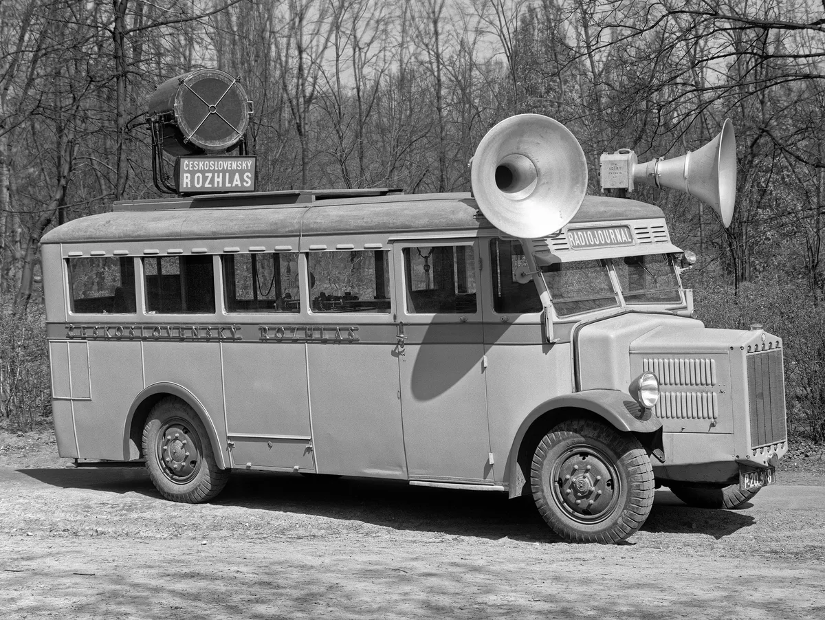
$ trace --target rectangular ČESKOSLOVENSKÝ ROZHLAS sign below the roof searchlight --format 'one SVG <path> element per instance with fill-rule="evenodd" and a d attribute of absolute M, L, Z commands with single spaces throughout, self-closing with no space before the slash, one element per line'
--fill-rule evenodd
<path fill-rule="evenodd" d="M 177 157 L 175 185 L 180 194 L 255 191 L 256 157 Z"/>

